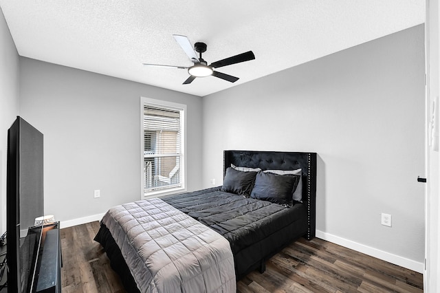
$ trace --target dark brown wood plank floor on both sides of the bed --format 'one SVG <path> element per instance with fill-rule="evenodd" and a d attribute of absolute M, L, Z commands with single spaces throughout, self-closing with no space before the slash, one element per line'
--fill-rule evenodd
<path fill-rule="evenodd" d="M 102 247 L 99 223 L 61 229 L 62 292 L 125 292 Z M 300 239 L 251 272 L 237 292 L 423 292 L 417 272 L 315 238 Z"/>

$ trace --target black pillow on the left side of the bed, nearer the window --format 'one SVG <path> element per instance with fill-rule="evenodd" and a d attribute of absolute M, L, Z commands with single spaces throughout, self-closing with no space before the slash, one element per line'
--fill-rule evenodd
<path fill-rule="evenodd" d="M 249 171 L 237 171 L 228 167 L 225 173 L 225 179 L 223 179 L 222 191 L 228 193 L 235 193 L 237 195 L 249 196 L 254 186 L 255 176 L 257 172 Z"/>

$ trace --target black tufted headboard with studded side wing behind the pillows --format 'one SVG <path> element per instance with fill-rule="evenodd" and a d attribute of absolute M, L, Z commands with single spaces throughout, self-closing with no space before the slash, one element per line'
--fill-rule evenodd
<path fill-rule="evenodd" d="M 303 203 L 307 207 L 307 239 L 315 237 L 316 228 L 316 153 L 283 151 L 224 151 L 223 177 L 228 167 L 245 166 L 264 170 L 303 171 Z"/>

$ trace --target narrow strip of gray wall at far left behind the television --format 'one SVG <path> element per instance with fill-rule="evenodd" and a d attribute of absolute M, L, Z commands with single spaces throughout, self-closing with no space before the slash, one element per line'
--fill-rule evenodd
<path fill-rule="evenodd" d="M 19 54 L 0 10 L 0 233 L 6 230 L 8 129 L 19 114 Z"/>

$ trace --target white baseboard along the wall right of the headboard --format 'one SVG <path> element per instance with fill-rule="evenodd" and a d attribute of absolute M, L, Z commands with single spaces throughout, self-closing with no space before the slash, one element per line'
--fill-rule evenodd
<path fill-rule="evenodd" d="M 370 255 L 371 257 L 376 257 L 377 259 L 388 261 L 388 263 L 393 263 L 403 268 L 407 268 L 409 270 L 413 270 L 415 272 L 419 272 L 423 274 L 423 263 L 419 263 L 418 261 L 413 261 L 412 259 L 406 259 L 405 257 L 399 257 L 399 255 L 392 254 L 390 252 L 386 252 L 383 250 L 379 250 L 377 248 L 372 248 L 370 246 L 365 246 L 363 244 L 351 241 L 349 239 L 344 239 L 342 237 L 331 235 L 327 232 L 322 232 L 320 230 L 316 230 L 316 237 L 336 243 L 346 248 L 350 248 L 352 250 L 356 250 L 358 252 L 362 252 L 364 254 Z"/>

